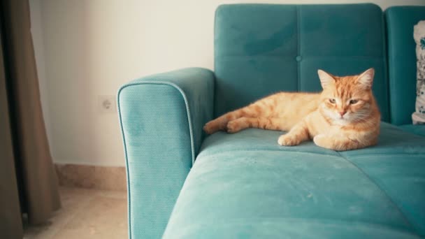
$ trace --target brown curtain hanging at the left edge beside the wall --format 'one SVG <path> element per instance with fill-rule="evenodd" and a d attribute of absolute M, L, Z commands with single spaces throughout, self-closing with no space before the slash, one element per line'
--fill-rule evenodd
<path fill-rule="evenodd" d="M 50 156 L 41 110 L 30 31 L 29 2 L 28 0 L 1 0 L 0 2 L 2 48 L 0 78 L 4 81 L 0 82 L 0 86 L 1 90 L 6 89 L 6 97 L 3 92 L 0 92 L 1 104 L 5 105 L 0 108 L 2 118 L 0 123 L 3 124 L 0 129 L 10 129 L 8 134 L 5 131 L 1 133 L 2 140 L 8 138 L 8 142 L 5 142 L 11 145 L 13 151 L 8 152 L 6 157 L 6 150 L 1 149 L 0 164 L 7 164 L 10 168 L 10 175 L 2 175 L 2 177 L 10 177 L 8 181 L 11 187 L 13 168 L 15 168 L 20 217 L 22 213 L 27 213 L 29 224 L 40 224 L 45 222 L 54 210 L 60 208 L 60 201 L 57 175 Z M 7 103 L 3 103 L 3 99 Z M 0 189 L 1 197 L 6 194 L 15 194 L 13 189 L 3 187 Z M 16 198 L 13 199 L 12 196 L 10 200 L 15 201 Z M 13 202 L 8 203 L 13 204 Z M 6 207 L 8 203 L 1 203 L 1 212 L 12 210 L 1 208 Z"/>

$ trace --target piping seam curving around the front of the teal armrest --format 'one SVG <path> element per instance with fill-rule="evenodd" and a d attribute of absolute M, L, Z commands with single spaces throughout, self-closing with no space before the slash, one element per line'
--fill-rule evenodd
<path fill-rule="evenodd" d="M 127 199 L 127 203 L 129 205 L 127 212 L 128 212 L 128 221 L 129 221 L 129 239 L 131 239 L 131 191 L 130 191 L 130 175 L 129 175 L 129 161 L 128 161 L 128 157 L 127 157 L 127 144 L 126 144 L 126 140 L 125 140 L 125 135 L 124 135 L 124 127 L 122 126 L 122 117 L 121 117 L 121 109 L 120 109 L 120 94 L 122 92 L 123 89 L 127 88 L 127 87 L 131 87 L 131 86 L 135 86 L 135 85 L 168 85 L 171 87 L 174 87 L 175 89 L 178 90 L 178 92 L 180 92 L 183 100 L 185 101 L 185 106 L 186 106 L 186 114 L 187 114 L 187 124 L 189 124 L 189 135 L 190 135 L 190 145 L 191 145 L 191 152 L 192 152 L 192 166 L 194 164 L 194 136 L 193 136 L 193 131 L 192 131 L 192 118 L 190 117 L 190 110 L 189 110 L 189 103 L 187 101 L 187 96 L 185 94 L 185 92 L 183 92 L 183 90 L 178 87 L 178 85 L 175 85 L 174 83 L 171 82 L 154 82 L 151 80 L 146 80 L 143 82 L 132 82 L 129 83 L 127 85 L 123 85 L 120 90 L 118 91 L 117 94 L 117 107 L 118 107 L 118 116 L 120 119 L 120 126 L 121 126 L 121 134 L 122 134 L 122 141 L 124 143 L 124 154 L 125 154 L 125 162 L 126 162 L 126 171 L 127 171 L 127 194 L 128 194 L 128 199 Z"/>

